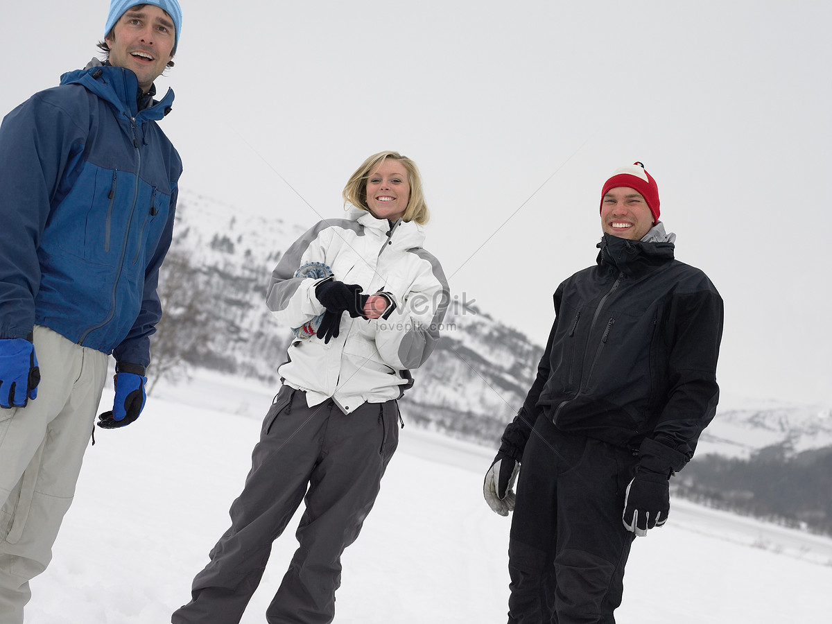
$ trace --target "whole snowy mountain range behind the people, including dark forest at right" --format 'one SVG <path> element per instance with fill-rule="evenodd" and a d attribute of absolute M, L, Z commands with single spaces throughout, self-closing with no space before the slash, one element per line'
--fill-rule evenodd
<path fill-rule="evenodd" d="M 266 309 L 265 288 L 284 250 L 320 218 L 301 224 L 295 217 L 244 215 L 208 197 L 181 197 L 162 270 L 165 318 L 153 342 L 151 384 L 198 367 L 256 379 L 276 393 L 293 334 Z M 546 332 L 530 337 L 498 322 L 454 295 L 453 285 L 451 297 L 442 339 L 413 371 L 400 409 L 405 423 L 493 449 L 532 384 Z M 741 399 L 723 384 L 696 459 L 674 484 L 682 496 L 717 507 L 832 532 L 832 507 L 815 495 L 832 485 L 827 464 L 830 409 Z M 790 484 L 794 500 L 772 489 L 772 474 Z"/>

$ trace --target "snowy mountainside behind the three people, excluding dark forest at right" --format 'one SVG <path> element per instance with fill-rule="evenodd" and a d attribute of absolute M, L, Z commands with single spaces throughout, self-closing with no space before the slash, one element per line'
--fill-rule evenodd
<path fill-rule="evenodd" d="M 319 218 L 309 210 L 288 211 L 291 217 L 286 212 L 244 215 L 235 206 L 183 193 L 161 290 L 167 285 L 176 295 L 166 302 L 165 322 L 191 319 L 196 327 L 162 324 L 155 359 L 165 340 L 180 347 L 191 340 L 191 362 L 276 384 L 290 329 L 266 310 L 265 286 L 283 251 Z M 183 303 L 183 293 L 193 300 Z M 522 334 L 453 292 L 444 324 L 436 352 L 414 371 L 414 388 L 401 405 L 405 421 L 494 446 L 532 384 L 546 332 Z M 735 398 L 723 387 L 697 454 L 748 458 L 774 445 L 794 453 L 832 446 L 832 410 Z"/>

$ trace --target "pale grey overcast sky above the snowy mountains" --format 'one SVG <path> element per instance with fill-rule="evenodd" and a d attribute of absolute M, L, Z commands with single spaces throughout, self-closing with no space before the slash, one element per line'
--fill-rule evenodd
<path fill-rule="evenodd" d="M 5 114 L 96 54 L 109 4 L 2 2 Z M 157 86 L 183 191 L 312 225 L 401 151 L 453 295 L 542 344 L 595 261 L 603 181 L 642 161 L 676 257 L 725 300 L 724 393 L 832 405 L 832 3 L 181 5 Z"/>

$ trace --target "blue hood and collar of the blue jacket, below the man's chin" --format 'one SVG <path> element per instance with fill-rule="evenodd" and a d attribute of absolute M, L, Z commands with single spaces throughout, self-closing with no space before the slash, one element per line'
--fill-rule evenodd
<path fill-rule="evenodd" d="M 171 111 L 174 93 L 168 89 L 165 97 L 152 102 L 151 106 L 139 110 L 139 81 L 136 74 L 124 67 L 105 65 L 97 58 L 87 63 L 83 69 L 72 70 L 61 76 L 61 85 L 81 85 L 87 91 L 95 93 L 102 100 L 109 102 L 116 110 L 130 118 L 144 121 L 160 121 Z M 155 89 L 151 89 L 155 93 Z"/>

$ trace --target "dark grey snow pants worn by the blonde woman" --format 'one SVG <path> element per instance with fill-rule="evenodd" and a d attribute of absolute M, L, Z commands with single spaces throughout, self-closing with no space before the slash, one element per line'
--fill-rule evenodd
<path fill-rule="evenodd" d="M 173 624 L 234 624 L 263 576 L 272 542 L 305 498 L 292 558 L 266 611 L 269 624 L 328 624 L 335 614 L 340 557 L 373 508 L 399 443 L 396 401 L 344 414 L 327 400 L 310 408 L 284 386 L 263 423 L 231 527 L 196 575 L 191 602 Z"/>

